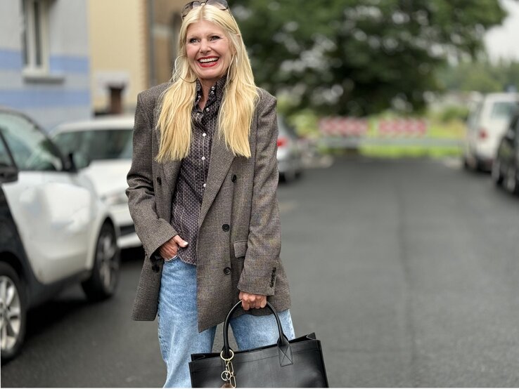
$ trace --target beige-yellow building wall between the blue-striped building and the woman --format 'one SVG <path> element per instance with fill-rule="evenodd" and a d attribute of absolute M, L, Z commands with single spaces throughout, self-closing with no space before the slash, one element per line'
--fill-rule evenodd
<path fill-rule="evenodd" d="M 146 0 L 89 0 L 91 91 L 97 113 L 110 109 L 110 86 L 124 86 L 122 105 L 133 112 L 148 88 Z"/>

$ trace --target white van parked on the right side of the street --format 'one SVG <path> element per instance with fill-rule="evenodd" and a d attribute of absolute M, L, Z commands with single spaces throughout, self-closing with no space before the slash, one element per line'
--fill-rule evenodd
<path fill-rule="evenodd" d="M 463 164 L 466 168 L 490 171 L 499 139 L 506 131 L 519 93 L 489 93 L 470 111 Z"/>

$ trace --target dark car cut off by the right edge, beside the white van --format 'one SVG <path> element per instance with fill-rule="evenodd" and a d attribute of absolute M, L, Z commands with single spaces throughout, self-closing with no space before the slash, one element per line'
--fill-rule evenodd
<path fill-rule="evenodd" d="M 499 140 L 494 164 L 492 180 L 498 186 L 503 185 L 512 194 L 519 193 L 519 104 L 510 124 Z"/>

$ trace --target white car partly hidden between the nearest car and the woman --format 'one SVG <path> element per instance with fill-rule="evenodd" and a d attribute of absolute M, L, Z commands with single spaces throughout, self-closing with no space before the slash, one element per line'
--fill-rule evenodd
<path fill-rule="evenodd" d="M 126 176 L 132 165 L 133 117 L 98 117 L 62 124 L 51 138 L 63 154 L 72 153 L 77 169 L 87 176 L 110 207 L 121 235 L 120 249 L 141 246 L 128 209 Z"/>

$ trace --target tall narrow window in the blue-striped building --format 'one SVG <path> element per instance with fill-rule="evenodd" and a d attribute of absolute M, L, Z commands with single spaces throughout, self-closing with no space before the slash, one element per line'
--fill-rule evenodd
<path fill-rule="evenodd" d="M 49 3 L 21 0 L 23 10 L 23 63 L 33 73 L 49 72 Z"/>

